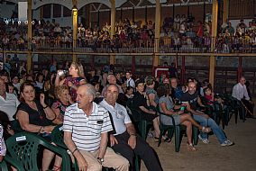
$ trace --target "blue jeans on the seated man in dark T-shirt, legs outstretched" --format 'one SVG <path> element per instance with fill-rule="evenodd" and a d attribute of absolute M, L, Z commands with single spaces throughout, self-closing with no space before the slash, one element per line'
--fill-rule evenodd
<path fill-rule="evenodd" d="M 224 135 L 224 131 L 216 124 L 216 122 L 212 119 L 206 119 L 204 116 L 194 114 L 193 118 L 200 123 L 203 127 L 210 127 L 213 132 L 215 133 L 215 136 L 219 140 L 219 142 L 222 144 L 226 140 L 226 136 Z M 208 139 L 207 133 L 201 132 L 201 137 L 203 139 Z"/>

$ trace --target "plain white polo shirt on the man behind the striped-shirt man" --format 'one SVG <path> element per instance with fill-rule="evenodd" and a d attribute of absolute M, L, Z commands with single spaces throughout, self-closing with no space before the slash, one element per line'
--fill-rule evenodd
<path fill-rule="evenodd" d="M 114 121 L 114 129 L 116 132 L 114 135 L 119 135 L 126 131 L 125 124 L 131 123 L 132 121 L 123 105 L 115 103 L 113 107 L 112 105 L 105 102 L 105 100 L 99 104 L 105 107 L 105 109 L 112 115 Z"/>

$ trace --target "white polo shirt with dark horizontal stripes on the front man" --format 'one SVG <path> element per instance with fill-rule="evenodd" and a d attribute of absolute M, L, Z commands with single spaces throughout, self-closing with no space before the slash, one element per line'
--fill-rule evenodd
<path fill-rule="evenodd" d="M 104 107 L 93 103 L 92 113 L 87 116 L 78 108 L 78 103 L 74 103 L 66 109 L 63 130 L 72 132 L 72 140 L 78 149 L 93 152 L 100 146 L 101 133 L 113 128 Z"/>

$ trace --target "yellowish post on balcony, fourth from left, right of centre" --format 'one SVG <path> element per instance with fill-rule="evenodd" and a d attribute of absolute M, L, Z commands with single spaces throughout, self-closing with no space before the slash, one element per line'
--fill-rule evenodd
<path fill-rule="evenodd" d="M 155 17 L 155 46 L 154 46 L 154 52 L 159 53 L 160 52 L 160 0 L 156 0 L 156 17 Z M 154 55 L 153 59 L 153 67 L 159 66 L 159 56 L 156 54 Z"/>

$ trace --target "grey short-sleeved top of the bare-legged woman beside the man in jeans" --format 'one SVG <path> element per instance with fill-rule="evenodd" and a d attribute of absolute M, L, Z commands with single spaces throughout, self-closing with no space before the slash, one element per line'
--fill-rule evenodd
<path fill-rule="evenodd" d="M 160 97 L 160 103 L 166 103 L 167 110 L 171 111 L 174 107 L 174 103 L 172 102 L 172 99 L 170 96 L 163 95 Z M 163 112 L 160 107 L 160 112 Z M 172 114 L 175 124 L 178 125 L 180 123 L 180 115 L 179 114 Z M 169 116 L 160 115 L 160 121 L 161 123 L 165 125 L 173 125 L 172 120 Z"/>

